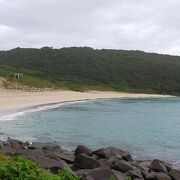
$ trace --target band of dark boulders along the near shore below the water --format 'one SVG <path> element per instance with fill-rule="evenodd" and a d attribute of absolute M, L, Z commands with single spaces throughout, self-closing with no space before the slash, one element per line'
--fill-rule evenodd
<path fill-rule="evenodd" d="M 115 147 L 93 151 L 79 145 L 75 151 L 61 149 L 57 143 L 0 141 L 8 156 L 23 155 L 52 173 L 64 169 L 82 180 L 180 180 L 180 171 L 160 160 L 133 160 L 129 152 Z"/>

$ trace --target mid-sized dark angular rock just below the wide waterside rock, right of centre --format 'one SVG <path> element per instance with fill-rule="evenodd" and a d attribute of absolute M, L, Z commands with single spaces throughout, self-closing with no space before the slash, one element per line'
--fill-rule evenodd
<path fill-rule="evenodd" d="M 120 160 L 113 166 L 113 169 L 125 173 L 129 170 L 133 170 L 133 166 L 131 166 L 127 161 Z"/>

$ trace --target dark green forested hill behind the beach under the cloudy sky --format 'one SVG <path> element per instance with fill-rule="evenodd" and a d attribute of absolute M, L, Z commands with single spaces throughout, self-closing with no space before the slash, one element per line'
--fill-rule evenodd
<path fill-rule="evenodd" d="M 16 48 L 0 51 L 0 75 L 24 73 L 56 86 L 180 94 L 180 57 L 142 51 L 95 50 L 88 47 Z M 27 78 L 28 77 L 28 78 Z"/>

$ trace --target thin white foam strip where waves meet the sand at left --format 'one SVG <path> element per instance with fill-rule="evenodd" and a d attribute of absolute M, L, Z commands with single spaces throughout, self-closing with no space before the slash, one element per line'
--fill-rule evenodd
<path fill-rule="evenodd" d="M 49 110 L 49 109 L 56 109 L 58 107 L 65 106 L 68 104 L 82 103 L 82 102 L 86 102 L 86 101 L 87 100 L 70 101 L 70 102 L 62 102 L 62 103 L 57 103 L 57 104 L 48 104 L 48 105 L 37 106 L 37 107 L 31 108 L 28 110 L 23 110 L 23 111 L 19 111 L 19 112 L 10 113 L 7 115 L 0 116 L 0 121 L 12 121 L 12 120 L 16 120 L 17 117 L 19 117 L 19 116 L 24 116 L 24 115 L 29 114 L 29 113 L 38 112 L 38 111 L 45 111 L 45 110 Z"/>

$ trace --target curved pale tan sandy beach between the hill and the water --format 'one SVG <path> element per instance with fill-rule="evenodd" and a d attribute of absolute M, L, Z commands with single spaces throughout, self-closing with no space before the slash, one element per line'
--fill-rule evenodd
<path fill-rule="evenodd" d="M 75 91 L 45 91 L 25 92 L 0 88 L 0 115 L 51 103 L 64 101 L 111 99 L 111 98 L 164 98 L 170 96 L 157 94 L 131 94 L 120 92 L 75 92 Z"/>

